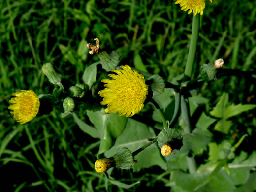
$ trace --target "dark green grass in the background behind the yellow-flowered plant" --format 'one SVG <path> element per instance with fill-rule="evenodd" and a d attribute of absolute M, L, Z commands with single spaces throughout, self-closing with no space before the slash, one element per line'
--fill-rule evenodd
<path fill-rule="evenodd" d="M 192 78 L 202 64 L 218 58 L 226 68 L 256 71 L 256 1 L 205 3 Z M 22 89 L 50 93 L 54 86 L 41 70 L 46 62 L 58 67 L 67 84 L 82 82 L 84 69 L 98 60 L 85 47 L 95 37 L 104 50 L 119 53 L 120 64 L 174 83 L 184 72 L 191 27 L 192 15 L 172 0 L 0 0 L 0 191 L 123 191 L 94 171 L 99 141 L 82 132 L 72 117 L 63 119 L 55 109 L 20 125 L 7 109 L 8 100 Z M 92 89 L 96 98 L 98 83 L 106 77 L 98 70 Z M 210 101 L 206 111 L 224 91 L 235 104 L 256 103 L 255 85 L 244 78 L 204 83 L 197 91 Z M 88 120 L 82 106 L 77 115 Z M 233 123 L 230 134 L 216 133 L 216 140 L 250 133 L 239 150 L 251 154 L 256 148 L 255 113 Z M 203 164 L 204 156 L 196 160 Z M 169 191 L 169 174 L 153 166 L 140 172 L 115 170 L 112 176 L 128 184 L 141 181 L 128 191 Z"/>

